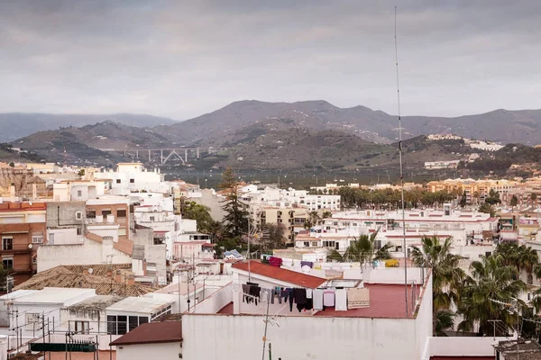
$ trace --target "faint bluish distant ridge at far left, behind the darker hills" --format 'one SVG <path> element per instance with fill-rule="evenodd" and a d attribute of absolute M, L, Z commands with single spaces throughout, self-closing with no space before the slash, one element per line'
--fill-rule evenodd
<path fill-rule="evenodd" d="M 111 115 L 80 115 L 50 113 L 0 113 L 0 142 L 13 141 L 36 131 L 57 130 L 60 127 L 85 126 L 96 122 L 115 121 L 137 127 L 153 127 L 172 124 L 176 121 L 151 115 L 116 113 Z"/>

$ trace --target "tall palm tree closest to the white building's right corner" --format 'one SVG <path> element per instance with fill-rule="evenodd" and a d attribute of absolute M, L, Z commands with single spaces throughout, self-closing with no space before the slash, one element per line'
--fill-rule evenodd
<path fill-rule="evenodd" d="M 432 320 L 435 336 L 442 336 L 443 330 L 454 326 L 452 305 L 460 301 L 460 290 L 466 278 L 459 267 L 463 257 L 451 254 L 453 240 L 446 238 L 443 243 L 439 238 L 425 237 L 421 239 L 422 249 L 411 247 L 411 257 L 415 266 L 432 269 Z"/>

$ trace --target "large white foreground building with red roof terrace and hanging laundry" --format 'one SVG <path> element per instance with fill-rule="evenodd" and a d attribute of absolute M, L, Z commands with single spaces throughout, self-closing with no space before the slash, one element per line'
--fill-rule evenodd
<path fill-rule="evenodd" d="M 397 269 L 392 269 L 392 271 Z M 417 269 L 419 271 L 420 269 Z M 388 277 L 385 284 L 364 284 L 370 294 L 361 309 L 329 306 L 326 311 L 289 311 L 289 302 L 246 302 L 243 284 L 249 280 L 261 288 L 295 287 L 359 289 L 359 281 L 339 283 L 299 274 L 274 266 L 247 263 L 233 266 L 231 290 L 215 293 L 182 317 L 182 356 L 186 359 L 250 359 L 261 356 L 261 338 L 271 343 L 272 357 L 282 359 L 420 359 L 432 335 L 432 279 L 427 274 L 413 298 L 404 300 L 403 274 Z M 378 270 L 387 272 L 387 269 Z M 413 272 L 413 269 L 411 269 Z M 250 274 L 250 275 L 249 275 Z M 364 290 L 360 289 L 360 290 Z M 264 298 L 264 297 L 263 297 Z M 233 304 L 231 304 L 233 302 Z M 271 314 L 265 334 L 264 314 Z M 205 311 L 203 311 L 205 310 Z M 208 338 L 213 339 L 209 347 Z M 242 344 L 242 346 L 235 346 Z"/>

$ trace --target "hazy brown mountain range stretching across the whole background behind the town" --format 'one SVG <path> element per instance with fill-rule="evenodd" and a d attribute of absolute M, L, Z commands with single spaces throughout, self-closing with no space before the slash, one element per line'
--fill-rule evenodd
<path fill-rule="evenodd" d="M 0 125 L 5 129 L 17 124 L 17 131 L 23 125 L 31 131 L 25 119 L 31 119 L 34 130 L 55 127 L 12 144 L 56 161 L 69 157 L 103 164 L 105 159 L 121 159 L 125 150 L 180 147 L 227 148 L 215 154 L 215 164 L 249 168 L 351 168 L 398 161 L 396 145 L 392 145 L 398 139 L 396 116 L 363 106 L 342 109 L 325 101 L 247 100 L 188 121 L 130 114 L 12 115 L 0 114 Z M 69 119 L 78 122 L 69 124 Z M 455 118 L 404 116 L 402 124 L 404 139 L 415 139 L 405 160 L 419 166 L 423 161 L 456 159 L 468 152 L 460 144 L 451 151 L 427 142 L 422 135 L 429 133 L 454 133 L 501 143 L 541 142 L 541 110 L 497 110 Z M 13 138 L 16 131 L 6 132 L 5 137 Z"/>

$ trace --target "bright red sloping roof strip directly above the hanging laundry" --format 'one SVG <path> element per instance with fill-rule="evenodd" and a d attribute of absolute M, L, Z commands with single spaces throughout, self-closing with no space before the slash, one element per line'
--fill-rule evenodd
<path fill-rule="evenodd" d="M 232 265 L 234 269 L 248 271 L 248 262 L 235 263 Z M 316 289 L 318 286 L 326 283 L 326 279 L 312 275 L 298 273 L 296 271 L 282 269 L 277 266 L 261 264 L 257 261 L 251 261 L 250 272 L 252 274 L 271 277 L 272 279 L 280 280 L 289 284 Z"/>

